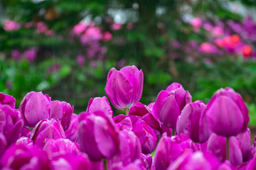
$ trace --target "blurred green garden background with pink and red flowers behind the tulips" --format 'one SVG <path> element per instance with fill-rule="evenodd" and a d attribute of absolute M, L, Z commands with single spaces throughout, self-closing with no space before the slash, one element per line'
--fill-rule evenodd
<path fill-rule="evenodd" d="M 136 65 L 141 102 L 176 81 L 207 103 L 230 86 L 256 126 L 255 0 L 1 0 L 0 91 L 18 107 L 29 91 L 75 113 L 106 96 L 107 73 Z"/>

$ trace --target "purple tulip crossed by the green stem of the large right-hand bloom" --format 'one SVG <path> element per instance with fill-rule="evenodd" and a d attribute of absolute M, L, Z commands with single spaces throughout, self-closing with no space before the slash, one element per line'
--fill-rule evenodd
<path fill-rule="evenodd" d="M 226 138 L 213 133 L 208 140 L 207 150 L 224 162 L 226 160 Z M 242 163 L 242 152 L 236 137 L 230 137 L 230 162 L 234 166 Z"/>

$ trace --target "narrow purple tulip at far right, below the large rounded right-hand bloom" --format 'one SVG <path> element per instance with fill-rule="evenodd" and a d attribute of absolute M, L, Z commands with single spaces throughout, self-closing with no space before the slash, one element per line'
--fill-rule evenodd
<path fill-rule="evenodd" d="M 247 162 L 251 156 L 250 129 L 247 128 L 245 132 L 238 134 L 236 138 L 242 151 L 242 162 Z"/>

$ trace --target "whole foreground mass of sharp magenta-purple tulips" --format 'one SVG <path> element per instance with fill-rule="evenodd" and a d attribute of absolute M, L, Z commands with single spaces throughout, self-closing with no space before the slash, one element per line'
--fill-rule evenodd
<path fill-rule="evenodd" d="M 0 94 L 1 169 L 256 169 L 248 109 L 233 89 L 208 104 L 192 102 L 178 83 L 154 103 L 139 103 L 144 75 L 135 66 L 110 69 L 105 91 L 124 115 L 113 118 L 107 97 L 90 98 L 85 112 L 30 92 Z"/>

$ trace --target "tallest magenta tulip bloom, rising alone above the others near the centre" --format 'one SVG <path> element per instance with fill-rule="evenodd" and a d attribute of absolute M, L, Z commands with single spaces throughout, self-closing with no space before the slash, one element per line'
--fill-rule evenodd
<path fill-rule="evenodd" d="M 142 97 L 142 89 L 143 72 L 135 66 L 127 66 L 120 71 L 112 68 L 107 74 L 105 91 L 118 110 L 136 105 Z"/>

